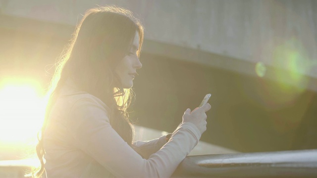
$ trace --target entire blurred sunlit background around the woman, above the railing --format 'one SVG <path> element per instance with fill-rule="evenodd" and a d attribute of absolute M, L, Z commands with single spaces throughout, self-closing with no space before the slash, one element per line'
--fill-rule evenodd
<path fill-rule="evenodd" d="M 32 153 L 54 63 L 97 4 L 145 26 L 138 138 L 173 132 L 211 93 L 193 154 L 317 148 L 316 0 L 0 0 L 0 160 Z"/>

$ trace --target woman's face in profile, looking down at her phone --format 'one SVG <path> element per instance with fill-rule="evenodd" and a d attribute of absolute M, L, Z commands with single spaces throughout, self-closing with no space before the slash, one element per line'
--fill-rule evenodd
<path fill-rule="evenodd" d="M 114 70 L 120 77 L 124 89 L 129 89 L 133 86 L 133 79 L 137 76 L 136 70 L 142 67 L 139 57 L 137 56 L 138 49 L 139 33 L 136 32 L 128 54 L 119 61 Z"/>

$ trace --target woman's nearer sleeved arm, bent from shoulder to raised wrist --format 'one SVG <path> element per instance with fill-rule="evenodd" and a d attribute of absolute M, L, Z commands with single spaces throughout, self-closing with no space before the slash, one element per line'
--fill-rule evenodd
<path fill-rule="evenodd" d="M 168 143 L 143 159 L 110 126 L 105 108 L 89 98 L 72 107 L 67 124 L 78 147 L 119 178 L 168 178 L 197 144 L 201 133 L 181 124 Z"/>

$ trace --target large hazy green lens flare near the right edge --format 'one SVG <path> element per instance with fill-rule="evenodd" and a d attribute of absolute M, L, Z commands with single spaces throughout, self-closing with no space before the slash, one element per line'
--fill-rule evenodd
<path fill-rule="evenodd" d="M 246 96 L 250 102 L 260 104 L 267 111 L 294 104 L 311 85 L 308 74 L 315 67 L 311 55 L 295 37 L 279 45 L 276 42 L 277 40 L 267 40 L 261 48 L 264 51 L 259 55 L 265 54 L 265 58 L 255 64 L 254 70 L 259 77 L 255 91 L 250 92 L 249 88 L 253 86 L 242 87 L 244 91 L 248 91 Z"/>

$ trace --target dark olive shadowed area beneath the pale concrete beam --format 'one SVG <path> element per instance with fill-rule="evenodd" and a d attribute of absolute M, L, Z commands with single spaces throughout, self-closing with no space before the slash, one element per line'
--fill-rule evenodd
<path fill-rule="evenodd" d="M 279 85 L 276 82 L 146 53 L 141 61 L 130 113 L 138 125 L 172 132 L 184 111 L 196 108 L 211 93 L 203 141 L 242 152 L 317 146 L 317 98 L 312 91 L 267 111 L 261 98 L 270 93 L 264 85 L 272 88 Z"/>

